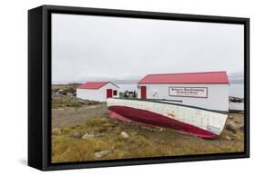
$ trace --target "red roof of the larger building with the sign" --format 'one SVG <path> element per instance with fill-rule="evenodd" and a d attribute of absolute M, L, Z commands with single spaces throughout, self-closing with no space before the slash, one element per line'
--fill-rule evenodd
<path fill-rule="evenodd" d="M 229 83 L 226 72 L 148 74 L 138 83 Z"/>

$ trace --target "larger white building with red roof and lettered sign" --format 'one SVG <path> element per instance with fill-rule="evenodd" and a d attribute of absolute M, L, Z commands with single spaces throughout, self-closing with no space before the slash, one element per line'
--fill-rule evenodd
<path fill-rule="evenodd" d="M 228 111 L 229 85 L 226 72 L 148 74 L 138 82 L 138 98 Z"/>

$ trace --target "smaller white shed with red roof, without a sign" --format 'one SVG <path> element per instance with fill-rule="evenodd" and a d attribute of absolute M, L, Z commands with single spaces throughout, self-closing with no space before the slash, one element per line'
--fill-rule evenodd
<path fill-rule="evenodd" d="M 111 82 L 87 82 L 77 87 L 77 98 L 105 102 L 118 97 L 118 85 Z"/>

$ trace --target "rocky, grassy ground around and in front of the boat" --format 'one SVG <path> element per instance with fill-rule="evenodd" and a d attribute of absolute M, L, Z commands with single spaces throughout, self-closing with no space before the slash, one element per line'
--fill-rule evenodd
<path fill-rule="evenodd" d="M 204 140 L 171 129 L 110 119 L 106 103 L 77 99 L 63 87 L 53 94 L 53 162 L 243 151 L 242 112 L 229 113 L 218 139 Z"/>

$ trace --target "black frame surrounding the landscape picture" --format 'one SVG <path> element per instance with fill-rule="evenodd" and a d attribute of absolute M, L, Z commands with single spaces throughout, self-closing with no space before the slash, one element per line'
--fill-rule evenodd
<path fill-rule="evenodd" d="M 51 163 L 51 14 L 103 15 L 244 25 L 244 152 Z M 250 157 L 250 19 L 42 5 L 28 11 L 28 165 L 42 171 Z"/>

